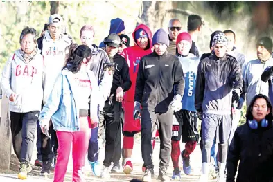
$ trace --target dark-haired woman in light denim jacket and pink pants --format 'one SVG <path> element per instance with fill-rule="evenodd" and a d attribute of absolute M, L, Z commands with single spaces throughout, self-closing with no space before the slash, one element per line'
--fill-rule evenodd
<path fill-rule="evenodd" d="M 82 167 L 85 165 L 91 125 L 98 123 L 98 103 L 101 99 L 96 77 L 87 67 L 91 55 L 91 49 L 85 45 L 73 51 L 39 116 L 42 132 L 47 134 L 51 119 L 58 138 L 55 182 L 64 181 L 71 145 L 73 181 L 83 181 Z"/>

